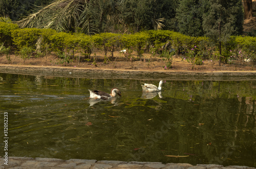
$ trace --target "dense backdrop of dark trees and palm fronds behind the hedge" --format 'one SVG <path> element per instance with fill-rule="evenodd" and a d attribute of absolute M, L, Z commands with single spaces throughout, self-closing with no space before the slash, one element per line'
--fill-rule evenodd
<path fill-rule="evenodd" d="M 29 1 L 29 0 L 27 0 Z M 242 34 L 243 7 L 241 0 L 55 0 L 41 2 L 32 12 L 26 2 L 0 3 L 0 11 L 12 20 L 17 5 L 27 16 L 16 21 L 19 27 L 50 28 L 58 32 L 76 32 L 87 35 L 111 33 L 136 33 L 146 30 L 172 30 L 188 36 L 207 36 L 221 19 L 230 35 Z M 5 2 L 5 1 L 3 1 Z M 30 0 L 38 5 L 38 1 Z M 211 21 L 210 18 L 214 20 Z M 210 19 L 210 20 L 209 20 Z M 209 20 L 208 23 L 204 20 Z M 225 25 L 230 23 L 229 25 Z M 207 24 L 207 25 L 205 25 Z"/>

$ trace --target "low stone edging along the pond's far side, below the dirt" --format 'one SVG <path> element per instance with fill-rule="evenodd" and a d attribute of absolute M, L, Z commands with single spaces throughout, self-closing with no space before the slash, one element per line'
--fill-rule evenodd
<path fill-rule="evenodd" d="M 146 71 L 88 69 L 57 66 L 0 65 L 0 73 L 104 79 L 147 80 L 256 80 L 256 71 Z"/>

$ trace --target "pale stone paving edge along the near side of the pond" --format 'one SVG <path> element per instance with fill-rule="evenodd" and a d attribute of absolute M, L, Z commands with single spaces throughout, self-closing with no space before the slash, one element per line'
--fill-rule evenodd
<path fill-rule="evenodd" d="M 86 160 L 86 159 L 70 159 L 70 160 L 62 160 L 57 158 L 31 158 L 31 157 L 9 157 L 8 165 L 4 164 L 4 158 L 1 158 L 0 168 L 132 168 L 132 169 L 149 169 L 149 168 L 162 168 L 162 169 L 171 169 L 171 168 L 180 168 L 180 169 L 242 169 L 248 168 L 253 169 L 254 167 L 248 166 L 238 166 L 238 165 L 230 165 L 223 166 L 218 164 L 197 164 L 191 165 L 188 163 L 167 163 L 163 164 L 161 162 L 125 162 L 125 161 L 97 161 L 97 160 Z"/>

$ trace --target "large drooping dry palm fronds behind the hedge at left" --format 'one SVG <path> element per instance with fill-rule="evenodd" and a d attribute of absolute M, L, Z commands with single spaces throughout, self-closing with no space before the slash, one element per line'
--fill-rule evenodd
<path fill-rule="evenodd" d="M 58 32 L 74 31 L 82 27 L 91 34 L 93 25 L 87 7 L 88 0 L 56 0 L 16 23 L 19 27 L 51 28 Z"/>

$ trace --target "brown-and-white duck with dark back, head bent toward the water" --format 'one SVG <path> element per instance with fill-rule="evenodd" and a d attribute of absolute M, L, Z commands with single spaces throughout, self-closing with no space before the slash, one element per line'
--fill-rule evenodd
<path fill-rule="evenodd" d="M 121 92 L 117 88 L 113 88 L 110 92 L 110 94 L 102 92 L 102 91 L 91 91 L 88 89 L 90 92 L 90 98 L 92 99 L 102 99 L 102 100 L 109 100 L 113 97 L 116 97 L 117 95 L 121 96 Z"/>

